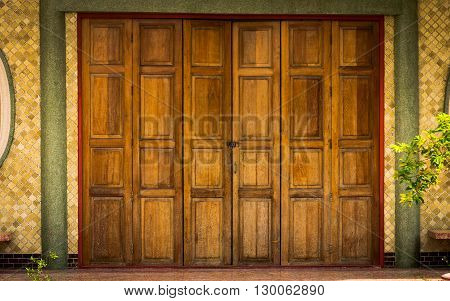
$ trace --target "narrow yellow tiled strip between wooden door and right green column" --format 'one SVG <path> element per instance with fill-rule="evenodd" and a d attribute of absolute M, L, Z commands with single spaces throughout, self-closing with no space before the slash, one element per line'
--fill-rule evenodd
<path fill-rule="evenodd" d="M 394 17 L 384 19 L 384 249 L 395 249 L 395 142 Z"/>

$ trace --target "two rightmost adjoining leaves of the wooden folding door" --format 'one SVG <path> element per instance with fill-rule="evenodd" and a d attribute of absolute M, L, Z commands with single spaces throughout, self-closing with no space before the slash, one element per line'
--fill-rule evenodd
<path fill-rule="evenodd" d="M 372 264 L 377 25 L 301 21 L 282 29 L 282 264 Z"/>

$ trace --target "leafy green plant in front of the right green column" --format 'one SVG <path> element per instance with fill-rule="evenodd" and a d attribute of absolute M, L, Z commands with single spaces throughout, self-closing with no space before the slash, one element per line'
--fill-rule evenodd
<path fill-rule="evenodd" d="M 424 131 L 410 143 L 397 143 L 391 148 L 402 153 L 395 178 L 405 185 L 401 203 L 420 204 L 424 193 L 438 183 L 438 176 L 450 167 L 450 115 L 440 113 L 437 127 Z"/>

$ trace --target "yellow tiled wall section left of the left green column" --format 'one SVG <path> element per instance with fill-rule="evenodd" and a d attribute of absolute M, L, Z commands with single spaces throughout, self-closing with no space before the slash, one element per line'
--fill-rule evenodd
<path fill-rule="evenodd" d="M 39 253 L 40 109 L 39 1 L 0 1 L 0 48 L 16 95 L 16 124 L 9 156 L 0 168 L 0 232 L 12 241 L 0 253 Z"/>

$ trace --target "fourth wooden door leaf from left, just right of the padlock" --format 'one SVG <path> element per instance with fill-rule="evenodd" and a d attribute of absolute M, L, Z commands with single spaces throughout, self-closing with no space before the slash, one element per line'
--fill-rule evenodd
<path fill-rule="evenodd" d="M 233 23 L 233 263 L 280 262 L 280 22 Z"/>

